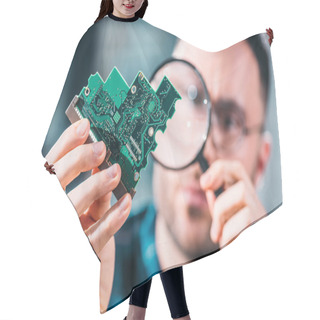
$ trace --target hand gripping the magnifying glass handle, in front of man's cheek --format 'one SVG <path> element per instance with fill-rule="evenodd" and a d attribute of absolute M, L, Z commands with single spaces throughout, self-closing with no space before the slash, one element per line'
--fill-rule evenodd
<path fill-rule="evenodd" d="M 210 237 L 220 247 L 233 241 L 250 224 L 266 215 L 242 163 L 219 159 L 200 178 L 212 216 Z M 214 190 L 224 187 L 218 197 Z"/>

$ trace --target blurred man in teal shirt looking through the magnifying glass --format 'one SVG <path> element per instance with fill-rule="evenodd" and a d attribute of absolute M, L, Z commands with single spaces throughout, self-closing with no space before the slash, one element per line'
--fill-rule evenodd
<path fill-rule="evenodd" d="M 209 168 L 203 173 L 196 162 L 174 171 L 155 162 L 154 203 L 132 215 L 115 235 L 117 272 L 109 307 L 128 288 L 159 270 L 219 250 L 267 214 L 256 193 L 271 151 L 271 135 L 264 131 L 269 56 L 262 36 L 217 53 L 177 43 L 174 57 L 198 69 L 212 102 L 213 125 L 203 150 Z M 179 134 L 183 139 L 184 132 Z M 225 135 L 234 140 L 228 147 Z M 220 187 L 223 192 L 216 197 Z"/>

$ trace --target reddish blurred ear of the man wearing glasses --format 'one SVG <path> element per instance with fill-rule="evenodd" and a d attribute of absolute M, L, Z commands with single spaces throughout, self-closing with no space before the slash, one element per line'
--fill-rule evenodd
<path fill-rule="evenodd" d="M 267 164 L 270 159 L 271 147 L 272 136 L 269 131 L 265 131 L 262 134 L 260 148 L 258 152 L 256 174 L 254 178 L 254 184 L 256 187 L 262 182 L 263 175 L 265 173 Z"/>

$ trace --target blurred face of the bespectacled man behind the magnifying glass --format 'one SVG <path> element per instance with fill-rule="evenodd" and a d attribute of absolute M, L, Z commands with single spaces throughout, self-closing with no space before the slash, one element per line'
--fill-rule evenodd
<path fill-rule="evenodd" d="M 174 56 L 191 62 L 199 70 L 213 109 L 228 102 L 244 114 L 246 127 L 259 126 L 264 122 L 258 63 L 245 41 L 217 53 L 208 53 L 180 41 Z M 203 153 L 209 166 L 219 158 L 239 160 L 255 185 L 258 175 L 261 175 L 262 136 L 259 133 L 245 136 L 236 149 L 221 154 L 212 142 L 213 131 L 211 128 Z M 198 163 L 180 171 L 167 170 L 158 164 L 154 167 L 158 214 L 164 218 L 178 247 L 190 258 L 217 248 L 210 239 L 212 219 L 205 193 L 200 188 L 201 174 Z"/>

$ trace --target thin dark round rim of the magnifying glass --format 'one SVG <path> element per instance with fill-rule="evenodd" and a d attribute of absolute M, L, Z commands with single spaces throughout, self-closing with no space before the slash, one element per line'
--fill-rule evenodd
<path fill-rule="evenodd" d="M 200 72 L 198 71 L 198 69 L 197 69 L 192 63 L 190 63 L 189 61 L 184 60 L 184 59 L 178 59 L 178 58 L 173 58 L 173 57 L 171 57 L 171 58 L 168 58 L 168 59 L 164 60 L 164 61 L 155 69 L 155 71 L 154 71 L 153 74 L 151 75 L 151 78 L 150 78 L 150 81 L 149 81 L 149 82 L 150 82 L 150 83 L 152 82 L 152 80 L 153 80 L 154 76 L 156 75 L 156 73 L 157 73 L 164 65 L 169 64 L 169 63 L 171 63 L 171 62 L 183 62 L 183 63 L 189 65 L 189 67 L 191 67 L 191 68 L 195 71 L 195 73 L 198 75 L 198 77 L 199 77 L 199 79 L 200 79 L 200 81 L 201 81 L 201 83 L 202 83 L 202 85 L 203 85 L 204 92 L 205 92 L 205 96 L 206 96 L 206 99 L 207 99 L 208 112 L 209 112 L 209 115 L 208 115 L 208 129 L 207 129 L 207 132 L 206 132 L 206 139 L 204 140 L 204 143 L 202 144 L 201 148 L 199 149 L 197 155 L 196 155 L 196 156 L 194 157 L 194 159 L 191 160 L 189 163 L 187 163 L 187 164 L 184 165 L 184 166 L 177 167 L 177 168 L 169 167 L 169 166 L 165 165 L 164 163 L 162 163 L 160 160 L 158 160 L 157 157 L 153 154 L 153 152 L 150 153 L 151 156 L 152 156 L 152 158 L 153 158 L 156 162 L 158 162 L 162 167 L 164 167 L 164 168 L 166 168 L 166 169 L 168 169 L 168 170 L 183 170 L 183 169 L 189 167 L 190 165 L 194 164 L 195 162 L 197 162 L 197 161 L 198 161 L 198 158 L 199 158 L 199 155 L 202 154 L 202 152 L 203 152 L 204 146 L 205 146 L 206 141 L 207 141 L 207 138 L 208 138 L 208 134 L 209 134 L 210 129 L 211 129 L 211 100 L 210 100 L 210 96 L 209 96 L 209 93 L 208 93 L 208 89 L 207 89 L 207 87 L 206 87 L 206 84 L 205 84 L 205 82 L 204 82 L 204 80 L 203 80 Z M 169 79 L 169 80 L 170 80 L 170 79 Z"/>

